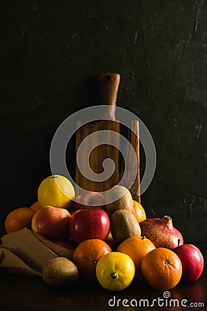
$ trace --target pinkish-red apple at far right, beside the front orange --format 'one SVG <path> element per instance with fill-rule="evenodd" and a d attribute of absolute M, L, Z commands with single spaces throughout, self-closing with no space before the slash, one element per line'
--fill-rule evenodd
<path fill-rule="evenodd" d="M 181 260 L 183 273 L 182 282 L 194 282 L 199 279 L 204 269 L 204 257 L 200 250 L 192 244 L 184 244 L 172 249 Z"/>

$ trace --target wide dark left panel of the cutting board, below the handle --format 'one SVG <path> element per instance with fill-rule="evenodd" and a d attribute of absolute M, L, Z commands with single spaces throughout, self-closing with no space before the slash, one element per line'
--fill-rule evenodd
<path fill-rule="evenodd" d="M 81 122 L 78 122 L 77 126 L 81 126 Z M 100 120 L 95 122 L 90 122 L 81 126 L 77 130 L 76 136 L 76 154 L 81 142 L 88 137 L 88 135 L 95 133 L 97 131 L 115 131 L 119 133 L 119 122 L 114 122 L 110 120 Z M 84 177 L 79 171 L 79 167 L 75 167 L 75 182 L 79 187 L 86 189 L 88 191 L 106 191 L 113 185 L 117 185 L 119 182 L 119 149 L 113 147 L 111 144 L 114 143 L 114 138 L 112 134 L 108 133 L 108 144 L 99 145 L 100 140 L 92 139 L 88 141 L 88 144 L 84 144 L 83 152 L 81 152 L 81 157 L 79 158 L 79 164 L 86 165 L 87 157 L 90 154 L 89 164 L 92 171 L 95 173 L 101 173 L 103 171 L 103 160 L 110 158 L 115 163 L 115 171 L 112 176 L 106 179 L 104 182 L 97 182 L 90 180 L 90 173 L 87 174 L 88 178 Z M 119 142 L 116 142 L 119 145 Z M 90 153 L 91 146 L 97 146 Z M 105 175 L 108 176 L 108 167 L 106 166 Z M 76 189 L 77 191 L 77 189 Z M 78 191 L 77 191 L 78 194 Z"/>

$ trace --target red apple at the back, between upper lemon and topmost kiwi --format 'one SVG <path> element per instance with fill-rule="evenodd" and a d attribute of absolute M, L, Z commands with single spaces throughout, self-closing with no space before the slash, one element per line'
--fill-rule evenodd
<path fill-rule="evenodd" d="M 95 191 L 86 191 L 75 198 L 72 210 L 78 209 L 105 209 L 105 198 L 103 194 Z"/>

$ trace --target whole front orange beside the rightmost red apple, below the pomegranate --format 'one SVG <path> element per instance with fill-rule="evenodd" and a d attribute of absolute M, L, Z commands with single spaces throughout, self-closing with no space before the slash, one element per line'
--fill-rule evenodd
<path fill-rule="evenodd" d="M 181 279 L 182 265 L 179 257 L 172 250 L 158 247 L 144 256 L 141 272 L 151 288 L 170 290 Z"/>

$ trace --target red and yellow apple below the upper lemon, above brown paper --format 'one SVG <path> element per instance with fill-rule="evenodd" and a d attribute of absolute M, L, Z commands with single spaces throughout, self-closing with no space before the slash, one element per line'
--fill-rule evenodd
<path fill-rule="evenodd" d="M 69 219 L 70 213 L 67 209 L 47 205 L 34 213 L 31 229 L 47 238 L 66 238 Z"/>

